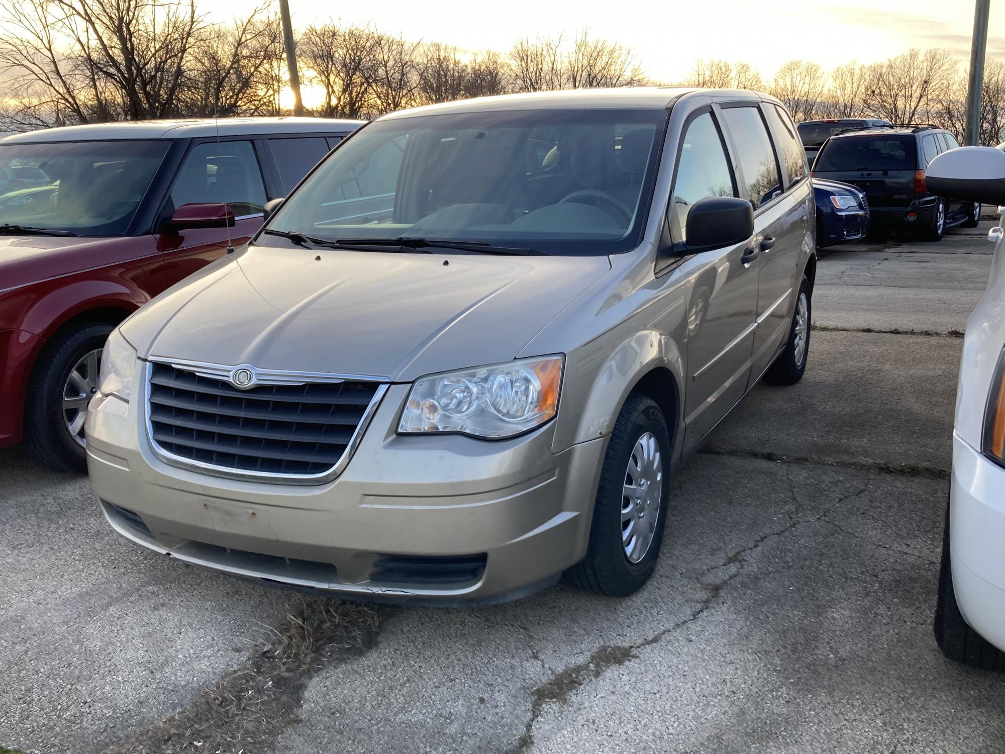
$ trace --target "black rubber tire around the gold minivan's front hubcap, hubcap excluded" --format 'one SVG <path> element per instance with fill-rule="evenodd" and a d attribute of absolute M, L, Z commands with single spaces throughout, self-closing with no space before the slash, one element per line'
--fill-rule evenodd
<path fill-rule="evenodd" d="M 629 458 L 636 441 L 646 432 L 656 438 L 659 448 L 662 487 L 652 541 L 641 559 L 632 563 L 622 546 L 622 495 Z M 593 522 L 586 556 L 565 572 L 568 584 L 597 594 L 627 597 L 649 580 L 659 557 L 669 508 L 670 453 L 670 434 L 659 406 L 644 395 L 629 395 L 618 414 L 607 444 L 597 499 L 593 506 Z"/>

